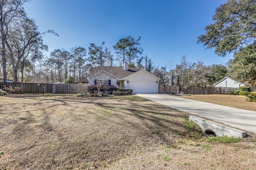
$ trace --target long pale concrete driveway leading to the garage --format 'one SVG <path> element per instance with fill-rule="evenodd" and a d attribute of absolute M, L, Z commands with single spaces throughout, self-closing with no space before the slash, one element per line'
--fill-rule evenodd
<path fill-rule="evenodd" d="M 136 94 L 154 102 L 256 133 L 256 111 L 178 98 L 166 94 Z"/>

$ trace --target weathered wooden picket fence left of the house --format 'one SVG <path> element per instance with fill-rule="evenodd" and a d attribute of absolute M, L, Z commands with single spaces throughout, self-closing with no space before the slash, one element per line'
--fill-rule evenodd
<path fill-rule="evenodd" d="M 44 94 L 44 93 L 81 93 L 85 92 L 88 83 L 83 84 L 54 84 L 54 83 L 3 83 L 0 82 L 0 89 L 6 87 L 21 87 L 25 94 Z"/>

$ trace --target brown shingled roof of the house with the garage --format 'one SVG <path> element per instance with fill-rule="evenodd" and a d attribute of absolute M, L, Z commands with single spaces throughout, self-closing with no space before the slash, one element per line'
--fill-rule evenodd
<path fill-rule="evenodd" d="M 134 72 L 140 71 L 141 69 L 135 68 L 135 67 L 129 67 L 128 70 L 124 70 L 124 67 L 116 67 L 116 66 L 98 66 L 91 68 L 89 71 L 89 77 L 97 74 L 99 72 L 107 72 L 108 74 L 118 78 L 118 79 L 123 79 Z"/>

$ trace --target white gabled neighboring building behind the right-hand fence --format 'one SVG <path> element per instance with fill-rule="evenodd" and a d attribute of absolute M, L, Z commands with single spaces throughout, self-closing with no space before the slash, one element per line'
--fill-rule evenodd
<path fill-rule="evenodd" d="M 234 80 L 234 78 L 232 77 L 224 77 L 222 78 L 220 81 L 216 82 L 214 84 L 214 87 L 236 87 L 239 88 L 241 86 L 250 86 L 250 84 L 248 84 L 247 82 L 238 82 L 236 80 Z"/>

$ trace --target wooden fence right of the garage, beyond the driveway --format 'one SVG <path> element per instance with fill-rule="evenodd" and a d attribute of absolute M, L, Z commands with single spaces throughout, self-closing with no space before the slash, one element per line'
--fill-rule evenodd
<path fill-rule="evenodd" d="M 238 88 L 230 87 L 184 87 L 184 86 L 159 86 L 159 93 L 181 94 L 233 94 Z"/>

